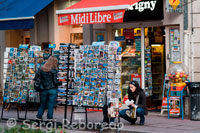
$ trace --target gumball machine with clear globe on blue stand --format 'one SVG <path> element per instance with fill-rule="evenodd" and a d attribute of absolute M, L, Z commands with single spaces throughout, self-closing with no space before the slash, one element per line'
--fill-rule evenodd
<path fill-rule="evenodd" d="M 181 116 L 184 119 L 183 97 L 187 95 L 188 72 L 181 62 L 174 62 L 168 69 L 170 87 L 167 90 L 168 119 Z"/>

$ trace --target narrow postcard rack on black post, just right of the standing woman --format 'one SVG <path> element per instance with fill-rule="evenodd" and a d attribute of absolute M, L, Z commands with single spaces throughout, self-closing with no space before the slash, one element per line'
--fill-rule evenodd
<path fill-rule="evenodd" d="M 58 80 L 62 85 L 58 87 L 58 104 L 73 105 L 74 90 L 74 51 L 78 46 L 74 44 L 61 43 L 59 50 L 54 50 L 53 55 L 58 58 L 59 72 Z"/>

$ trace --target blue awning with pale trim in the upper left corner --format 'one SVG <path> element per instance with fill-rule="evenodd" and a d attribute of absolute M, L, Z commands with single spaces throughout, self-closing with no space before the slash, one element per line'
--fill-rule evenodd
<path fill-rule="evenodd" d="M 34 16 L 53 0 L 1 0 L 0 30 L 31 29 Z"/>

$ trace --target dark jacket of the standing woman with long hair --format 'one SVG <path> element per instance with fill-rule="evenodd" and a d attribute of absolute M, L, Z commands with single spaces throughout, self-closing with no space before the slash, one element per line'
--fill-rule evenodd
<path fill-rule="evenodd" d="M 57 88 L 59 85 L 62 85 L 62 82 L 59 82 L 57 79 L 58 71 L 52 69 L 50 72 L 44 72 L 41 70 L 41 90 Z"/>

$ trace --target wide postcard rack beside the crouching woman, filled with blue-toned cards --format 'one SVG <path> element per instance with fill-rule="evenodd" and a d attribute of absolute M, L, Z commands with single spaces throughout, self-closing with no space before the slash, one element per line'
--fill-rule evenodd
<path fill-rule="evenodd" d="M 103 107 L 111 98 L 121 98 L 121 47 L 83 45 L 75 51 L 75 80 L 72 104 Z M 107 96 L 107 97 L 106 97 Z"/>

